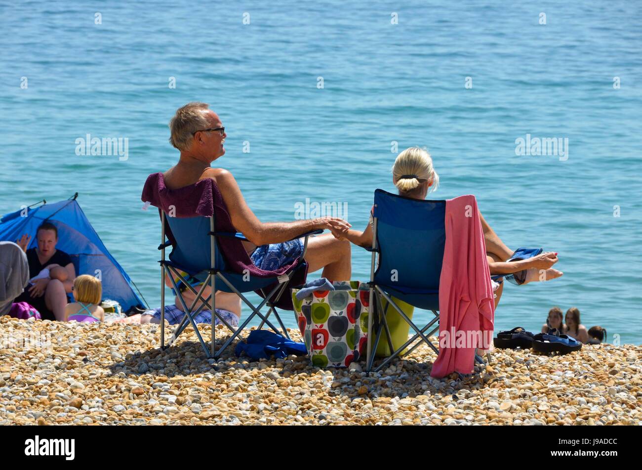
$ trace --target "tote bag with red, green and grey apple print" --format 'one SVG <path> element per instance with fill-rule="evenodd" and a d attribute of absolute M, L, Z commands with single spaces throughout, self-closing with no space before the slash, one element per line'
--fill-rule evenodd
<path fill-rule="evenodd" d="M 334 290 L 317 290 L 292 302 L 299 331 L 317 367 L 347 367 L 365 356 L 370 292 L 359 281 L 334 281 Z"/>

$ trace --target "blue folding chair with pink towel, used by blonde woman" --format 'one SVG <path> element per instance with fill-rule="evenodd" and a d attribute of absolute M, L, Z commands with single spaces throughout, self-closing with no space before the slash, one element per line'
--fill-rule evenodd
<path fill-rule="evenodd" d="M 375 354 L 372 352 L 372 326 L 376 321 L 376 351 L 382 331 L 386 332 L 388 347 L 394 351 L 375 370 L 380 370 L 419 339 L 408 353 L 425 342 L 435 353 L 437 347 L 428 339 L 438 329 L 439 277 L 441 275 L 444 244 L 446 243 L 445 200 L 416 200 L 398 196 L 383 189 L 374 192 L 374 227 L 370 263 L 370 305 L 375 315 L 368 318 L 367 370 L 372 369 Z M 379 255 L 379 266 L 375 268 L 376 256 Z M 386 299 L 386 309 L 382 308 L 381 298 Z M 392 297 L 403 300 L 416 308 L 433 312 L 428 324 L 419 328 L 408 318 Z M 372 302 L 376 302 L 373 304 Z M 390 331 L 386 322 L 387 309 L 392 306 L 401 318 L 415 331 L 406 343 L 396 350 L 390 340 Z M 376 318 L 375 318 L 376 317 Z M 431 326 L 435 326 L 426 333 Z"/>

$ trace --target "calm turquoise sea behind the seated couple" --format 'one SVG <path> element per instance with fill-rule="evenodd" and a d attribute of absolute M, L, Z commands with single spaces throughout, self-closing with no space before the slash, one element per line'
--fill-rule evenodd
<path fill-rule="evenodd" d="M 577 306 L 609 342 L 641 344 L 640 17 L 594 0 L 2 2 L 0 213 L 78 191 L 159 306 L 160 224 L 140 194 L 177 161 L 167 124 L 187 101 L 221 116 L 216 164 L 263 221 L 309 198 L 347 203 L 361 229 L 374 189 L 394 190 L 394 142 L 426 146 L 433 198 L 472 193 L 508 246 L 559 252 L 562 279 L 507 286 L 497 331 Z M 128 158 L 76 155 L 87 134 L 127 138 Z M 527 134 L 568 153 L 516 155 Z M 353 279 L 369 263 L 354 247 Z"/>

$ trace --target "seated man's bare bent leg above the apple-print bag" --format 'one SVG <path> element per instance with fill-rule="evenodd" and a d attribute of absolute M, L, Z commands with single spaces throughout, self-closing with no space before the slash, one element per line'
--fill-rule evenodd
<path fill-rule="evenodd" d="M 347 240 L 338 240 L 332 234 L 310 237 L 305 259 L 309 272 L 323 268 L 322 275 L 329 281 L 350 281 L 352 260 Z"/>

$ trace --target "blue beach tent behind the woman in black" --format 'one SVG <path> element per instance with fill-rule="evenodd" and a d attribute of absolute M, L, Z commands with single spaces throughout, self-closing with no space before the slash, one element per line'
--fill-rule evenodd
<path fill-rule="evenodd" d="M 76 275 L 100 273 L 103 299 L 116 300 L 124 312 L 132 307 L 145 308 L 142 296 L 132 289 L 130 277 L 109 254 L 76 202 L 76 196 L 78 193 L 68 200 L 53 204 L 42 201 L 44 204 L 38 207 L 23 207 L 5 214 L 0 219 L 0 241 L 16 241 L 28 234 L 31 236 L 28 248 L 33 248 L 38 244 L 35 235 L 39 225 L 45 220 L 51 222 L 58 228 L 56 248 L 71 256 Z"/>

